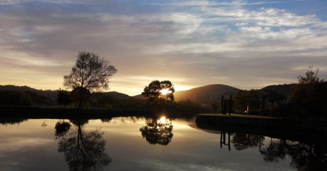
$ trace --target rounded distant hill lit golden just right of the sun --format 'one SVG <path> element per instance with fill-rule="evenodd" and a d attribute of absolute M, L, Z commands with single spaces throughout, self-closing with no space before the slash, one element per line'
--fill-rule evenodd
<path fill-rule="evenodd" d="M 175 92 L 175 100 L 191 100 L 191 101 L 219 101 L 222 95 L 230 95 L 240 89 L 229 85 L 205 85 L 192 88 L 185 91 Z"/>

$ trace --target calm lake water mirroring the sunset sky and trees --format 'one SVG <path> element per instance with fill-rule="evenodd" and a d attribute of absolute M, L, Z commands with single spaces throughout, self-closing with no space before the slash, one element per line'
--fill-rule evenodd
<path fill-rule="evenodd" d="M 1 121 L 0 132 L 1 171 L 293 171 L 327 163 L 321 143 L 221 134 L 164 117 Z"/>

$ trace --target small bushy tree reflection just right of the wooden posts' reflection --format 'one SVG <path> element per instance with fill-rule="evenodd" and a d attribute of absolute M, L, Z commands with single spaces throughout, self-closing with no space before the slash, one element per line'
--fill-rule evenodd
<path fill-rule="evenodd" d="M 264 136 L 244 133 L 235 133 L 231 142 L 236 150 L 245 150 L 252 147 L 261 147 Z"/>

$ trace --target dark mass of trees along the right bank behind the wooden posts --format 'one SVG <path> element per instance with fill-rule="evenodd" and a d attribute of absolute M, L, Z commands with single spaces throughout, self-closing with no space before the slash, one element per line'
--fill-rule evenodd
<path fill-rule="evenodd" d="M 325 118 L 327 80 L 318 77 L 312 66 L 298 84 L 268 86 L 263 89 L 241 90 L 234 94 L 234 112 L 279 117 Z M 247 111 L 249 107 L 249 111 Z"/>

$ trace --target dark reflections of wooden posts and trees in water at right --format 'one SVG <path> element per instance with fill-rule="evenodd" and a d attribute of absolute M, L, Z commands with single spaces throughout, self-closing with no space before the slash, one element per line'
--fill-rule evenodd
<path fill-rule="evenodd" d="M 265 162 L 279 162 L 288 155 L 291 158 L 290 166 L 298 171 L 327 171 L 327 147 L 324 141 L 308 144 L 270 138 L 269 145 L 263 147 L 264 140 L 265 137 L 262 135 L 221 131 L 220 147 L 226 145 L 230 151 L 232 143 L 235 150 L 258 148 Z"/>

